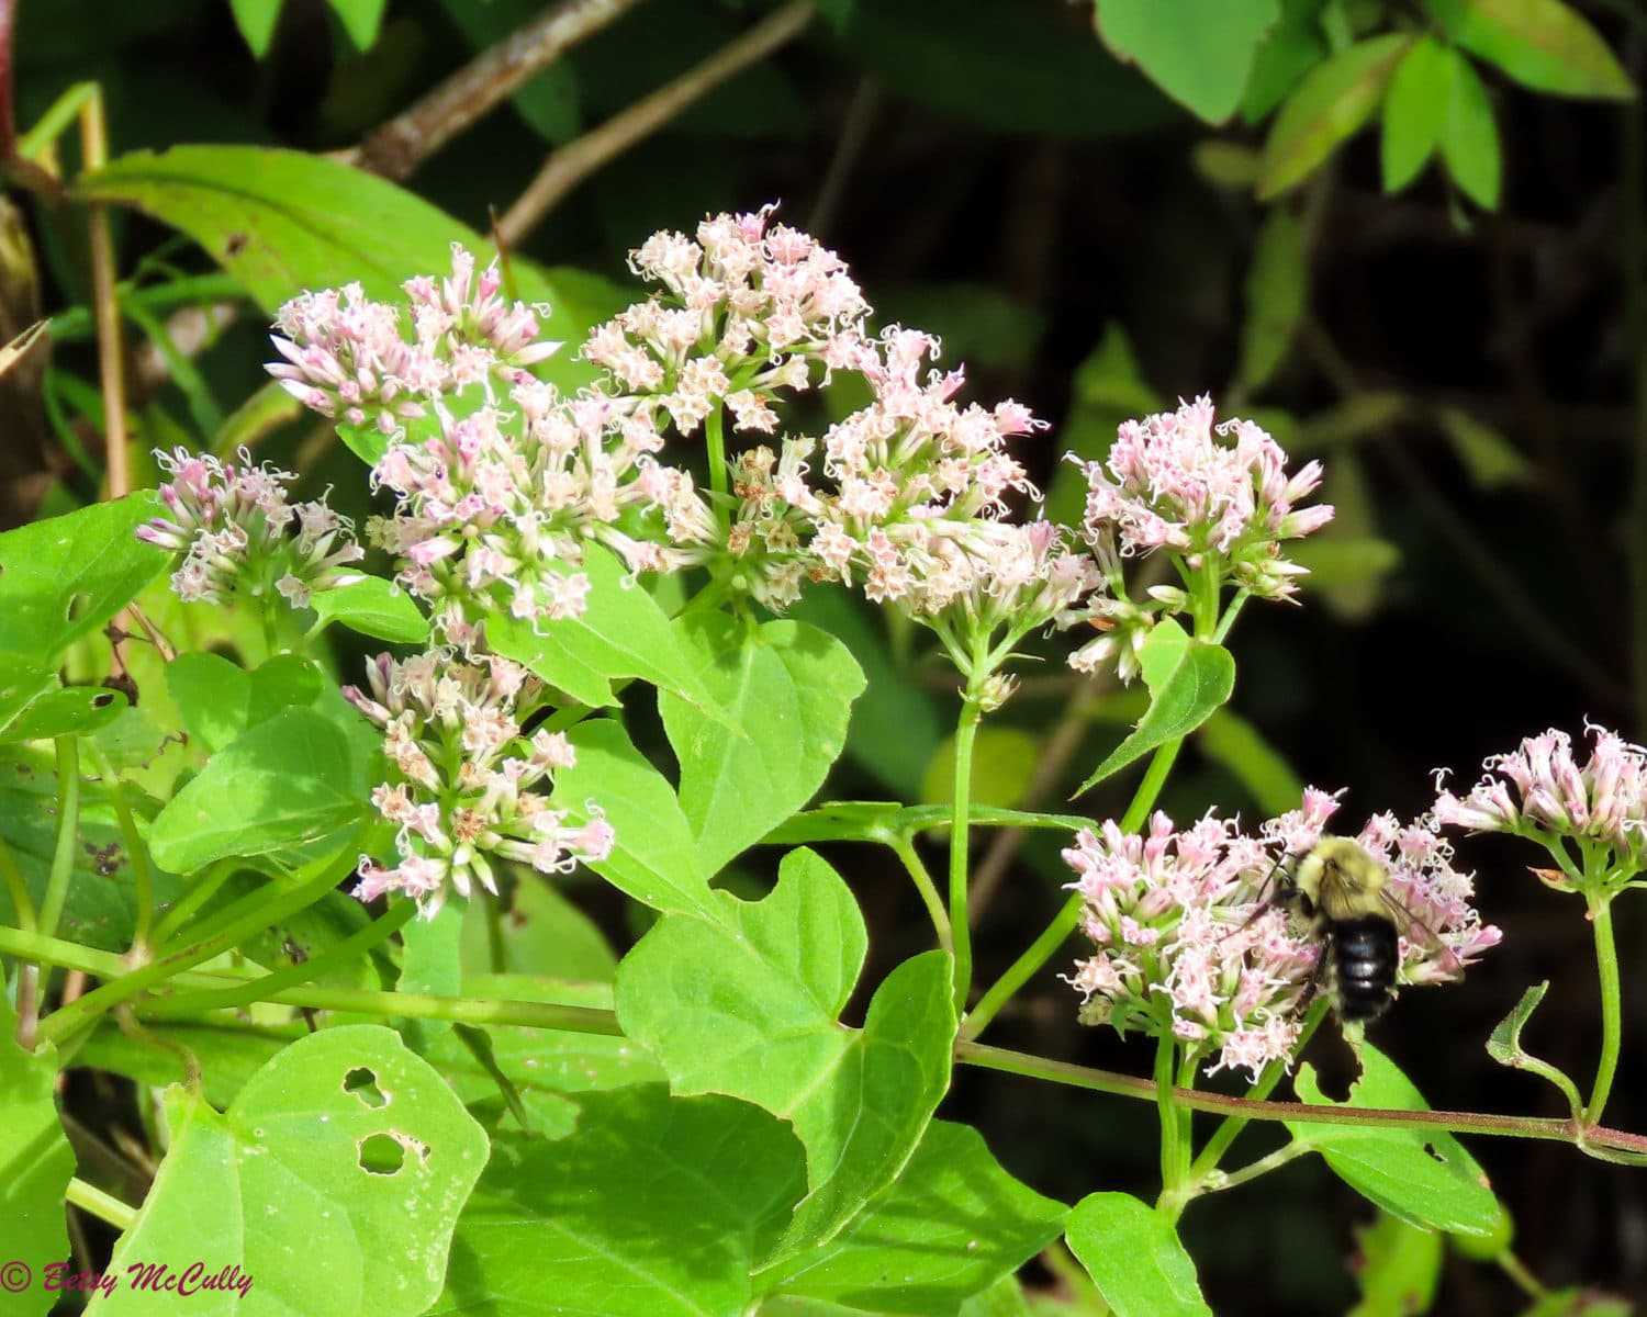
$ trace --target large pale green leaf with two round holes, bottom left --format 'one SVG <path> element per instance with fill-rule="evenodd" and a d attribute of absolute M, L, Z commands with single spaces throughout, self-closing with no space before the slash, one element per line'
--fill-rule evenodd
<path fill-rule="evenodd" d="M 458 1213 L 488 1141 L 392 1029 L 338 1026 L 264 1065 L 224 1115 L 166 1093 L 171 1146 L 109 1263 L 247 1289 L 214 1312 L 413 1317 L 440 1294 Z M 89 1312 L 97 1314 L 102 1299 Z M 122 1286 L 109 1309 L 175 1314 L 175 1292 Z"/>

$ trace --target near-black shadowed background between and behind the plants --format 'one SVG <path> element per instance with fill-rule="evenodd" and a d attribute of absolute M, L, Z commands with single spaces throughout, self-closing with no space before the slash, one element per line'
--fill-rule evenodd
<path fill-rule="evenodd" d="M 395 0 L 379 44 L 359 54 L 324 5 L 292 0 L 275 51 L 257 64 L 216 0 L 31 0 L 16 36 L 18 120 L 28 125 L 69 82 L 99 79 L 115 151 L 201 140 L 338 148 L 484 44 L 476 13 L 501 33 L 532 8 L 471 5 L 460 26 L 458 10 L 436 0 Z M 1197 168 L 1197 147 L 1214 133 L 1112 64 L 1077 7 L 898 0 L 861 8 L 875 13 L 845 33 L 817 26 L 600 171 L 522 250 L 624 278 L 624 250 L 652 229 L 781 198 L 781 216 L 847 257 L 886 319 L 945 336 L 947 361 L 970 362 L 972 397 L 1010 393 L 1054 423 L 1047 477 L 1057 454 L 1090 444 L 1118 418 L 1072 384 L 1112 328 L 1130 337 L 1143 380 L 1161 398 L 1211 392 L 1227 400 L 1263 209 Z M 1642 31 L 1632 31 L 1626 7 L 1579 8 L 1640 81 Z M 580 115 L 600 122 L 715 49 L 751 13 L 708 0 L 642 7 L 572 56 L 573 79 L 558 92 L 539 87 L 539 127 L 557 105 L 568 132 Z M 1234 710 L 1301 779 L 1349 789 L 1342 818 L 1351 828 L 1374 810 L 1421 812 L 1433 767 L 1451 766 L 1454 784 L 1467 785 L 1484 754 L 1548 726 L 1578 734 L 1589 718 L 1647 739 L 1627 650 L 1631 619 L 1647 601 L 1632 594 L 1622 558 L 1631 481 L 1647 453 L 1639 402 L 1647 357 L 1626 323 L 1621 263 L 1627 230 L 1640 224 L 1642 199 L 1621 184 L 1632 153 L 1640 178 L 1640 109 L 1538 97 L 1502 81 L 1492 92 L 1505 142 L 1502 214 L 1461 224 L 1433 171 L 1403 196 L 1380 196 L 1375 142 L 1359 138 L 1311 184 L 1309 323 L 1263 395 L 1239 400 L 1283 443 L 1290 426 L 1344 407 L 1347 389 L 1405 402 L 1402 417 L 1375 433 L 1337 451 L 1313 449 L 1329 469 L 1337 456 L 1364 476 L 1359 491 L 1334 497 L 1355 496 L 1365 533 L 1400 550 L 1397 570 L 1354 599 L 1306 589 L 1301 609 L 1253 606 L 1232 640 L 1240 665 Z M 1220 137 L 1260 140 L 1240 125 Z M 506 207 L 547 150 L 540 132 L 504 109 L 408 186 L 484 229 L 488 207 Z M 71 230 L 23 209 L 48 313 L 84 301 Z M 204 268 L 165 240 L 127 221 L 125 268 L 156 250 Z M 1632 275 L 1637 288 L 1642 277 Z M 201 362 L 229 405 L 262 380 L 262 326 L 242 316 Z M 53 369 L 96 379 L 82 347 L 61 349 Z M 79 477 L 38 415 L 0 402 L 0 481 L 8 514 L 26 515 L 53 476 L 71 487 Z M 161 393 L 158 403 L 184 415 L 176 397 Z M 1420 415 L 1438 403 L 1499 431 L 1528 463 L 1525 479 L 1500 487 L 1472 479 Z M 305 433 L 283 436 L 270 456 L 290 459 L 303 441 Z M 336 481 L 339 494 L 361 484 L 341 449 L 303 451 L 313 484 Z M 1003 723 L 1044 734 L 1074 691 L 1057 673 L 1049 663 Z M 911 728 L 932 711 L 952 716 L 942 670 L 921 662 L 919 639 L 899 680 Z M 634 714 L 646 724 L 646 708 Z M 1094 724 L 1062 793 L 1117 734 Z M 860 742 L 830 793 L 888 795 L 875 762 L 875 747 Z M 1079 808 L 1118 815 L 1131 785 Z M 1209 805 L 1257 813 L 1239 780 L 1192 751 L 1163 803 L 1179 818 Z M 1375 1040 L 1435 1106 L 1561 1115 L 1551 1091 L 1494 1065 L 1482 1044 L 1522 989 L 1548 978 L 1551 994 L 1528 1045 L 1588 1083 L 1598 1012 L 1583 910 L 1525 873 L 1538 859 L 1530 851 L 1479 840 L 1461 843 L 1461 856 L 1479 871 L 1481 905 L 1505 942 L 1463 988 L 1407 994 Z M 865 981 L 873 983 L 924 945 L 921 907 L 879 853 L 832 858 L 871 924 L 876 963 Z M 758 853 L 735 881 L 761 882 L 766 861 L 776 866 Z M 1043 838 L 1019 854 L 980 930 L 985 983 L 1056 909 L 1061 881 L 1056 843 Z M 632 935 L 614 892 L 581 891 L 619 942 Z M 1640 905 L 1617 907 L 1626 1065 L 1607 1119 L 1629 1129 L 1647 1129 L 1647 1098 L 1631 1078 L 1647 1024 L 1635 963 Z M 990 1040 L 1148 1070 L 1140 1047 L 1079 1029 L 1074 998 L 1051 973 Z M 975 1121 L 1003 1162 L 1047 1194 L 1155 1192 L 1146 1105 L 963 1072 L 947 1111 Z M 1519 1250 L 1538 1276 L 1647 1299 L 1640 1172 L 1561 1144 L 1472 1139 L 1471 1147 L 1514 1208 Z M 1197 1203 L 1183 1230 L 1217 1312 L 1314 1314 L 1351 1305 L 1346 1258 L 1354 1226 L 1369 1218 L 1367 1205 L 1309 1159 L 1227 1200 Z M 1492 1268 L 1454 1258 L 1435 1310 L 1469 1317 L 1515 1305 Z"/>

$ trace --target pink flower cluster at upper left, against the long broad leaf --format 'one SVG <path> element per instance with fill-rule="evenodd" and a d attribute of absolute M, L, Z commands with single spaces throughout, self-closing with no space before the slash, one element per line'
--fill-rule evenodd
<path fill-rule="evenodd" d="M 499 295 L 497 262 L 476 275 L 474 257 L 458 244 L 450 278 L 420 275 L 404 288 L 410 339 L 400 309 L 372 301 L 359 283 L 300 293 L 275 318 L 280 334 L 272 342 L 283 361 L 268 374 L 323 417 L 392 435 L 445 393 L 471 384 L 491 389 L 494 377 L 529 380 L 527 367 L 560 349 L 539 339 L 532 308 Z"/>

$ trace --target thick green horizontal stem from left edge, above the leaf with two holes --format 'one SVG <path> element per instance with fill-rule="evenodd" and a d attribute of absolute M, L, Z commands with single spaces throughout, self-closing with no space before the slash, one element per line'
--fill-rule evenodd
<path fill-rule="evenodd" d="M 410 904 L 410 902 L 408 902 Z M 92 947 L 81 947 L 77 942 L 63 942 L 40 933 L 20 933 L 16 928 L 0 927 L 0 955 L 26 956 L 49 965 L 61 965 L 69 970 L 84 970 L 87 975 L 114 980 L 125 971 L 124 956 L 114 952 L 99 952 Z M 267 978 L 273 978 L 268 975 Z M 221 989 L 240 983 L 257 983 L 244 975 L 231 975 L 217 970 L 184 970 L 173 975 L 170 983 L 186 989 Z M 417 1019 L 450 1019 L 468 1024 L 520 1024 L 529 1029 L 563 1029 L 575 1034 L 603 1034 L 623 1037 L 618 1016 L 611 1011 L 600 1011 L 588 1006 L 557 1006 L 542 1001 L 492 1001 L 486 998 L 436 998 L 418 993 L 379 993 L 364 988 L 324 988 L 305 984 L 301 988 L 282 988 L 273 993 L 259 994 L 260 1001 L 272 1001 L 280 1006 L 306 1006 L 316 1011 L 348 1011 L 361 1016 L 413 1016 Z M 142 1003 L 140 1014 L 147 1014 L 153 1003 Z M 58 1012 L 63 1014 L 61 1011 Z"/>

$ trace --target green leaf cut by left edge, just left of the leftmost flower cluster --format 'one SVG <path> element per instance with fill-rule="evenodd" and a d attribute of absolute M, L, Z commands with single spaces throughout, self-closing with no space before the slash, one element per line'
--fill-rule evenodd
<path fill-rule="evenodd" d="M 145 491 L 0 535 L 7 652 L 49 663 L 132 603 L 170 561 L 135 533 L 155 509 Z"/>

